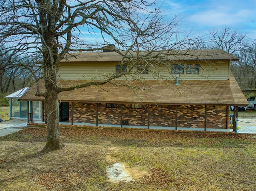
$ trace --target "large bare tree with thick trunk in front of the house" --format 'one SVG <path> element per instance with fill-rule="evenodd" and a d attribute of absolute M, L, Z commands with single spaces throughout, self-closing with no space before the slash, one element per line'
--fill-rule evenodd
<path fill-rule="evenodd" d="M 125 75 L 119 72 L 100 81 L 60 88 L 60 60 L 70 51 L 98 51 L 111 42 L 116 44 L 114 51 L 124 57 L 123 65 L 127 59 L 134 64 L 157 57 L 150 52 L 161 47 L 187 48 L 186 42 L 192 41 L 175 30 L 176 18 L 167 22 L 155 2 L 148 0 L 2 0 L 0 14 L 0 42 L 12 52 L 32 53 L 42 59 L 46 91 L 38 89 L 36 93 L 44 96 L 48 114 L 47 142 L 42 152 L 64 146 L 58 125 L 58 93 L 101 85 Z M 101 40 L 86 41 L 84 30 L 99 32 Z M 147 53 L 138 56 L 140 50 Z"/>

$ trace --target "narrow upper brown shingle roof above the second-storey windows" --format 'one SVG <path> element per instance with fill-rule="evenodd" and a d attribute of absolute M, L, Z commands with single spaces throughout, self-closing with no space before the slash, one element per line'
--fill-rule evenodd
<path fill-rule="evenodd" d="M 121 51 L 121 53 L 124 53 Z M 130 56 L 136 58 L 136 52 L 131 52 Z M 156 56 L 156 59 L 166 60 L 238 60 L 238 57 L 231 55 L 221 49 L 210 50 L 178 50 L 178 51 L 140 51 L 139 55 L 144 55 L 148 59 Z M 129 54 L 127 55 L 129 57 Z M 116 52 L 86 52 L 70 53 L 61 62 L 94 62 L 94 61 L 121 61 L 122 55 Z"/>

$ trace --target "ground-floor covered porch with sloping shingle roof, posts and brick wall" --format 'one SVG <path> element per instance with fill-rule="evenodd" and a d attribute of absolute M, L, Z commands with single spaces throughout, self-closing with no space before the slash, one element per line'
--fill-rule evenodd
<path fill-rule="evenodd" d="M 62 87 L 84 81 L 60 80 Z M 110 125 L 120 128 L 136 126 L 151 129 L 201 128 L 229 130 L 229 107 L 235 107 L 233 124 L 236 124 L 237 106 L 247 101 L 233 76 L 230 80 L 187 80 L 175 85 L 173 81 L 118 81 L 59 93 L 60 121 Z M 132 89 L 132 87 L 137 87 Z M 44 82 L 40 81 L 44 91 Z M 40 100 L 41 119 L 47 119 L 44 98 L 36 97 L 36 87 L 23 96 L 24 100 Z M 128 123 L 127 123 L 128 121 Z M 234 125 L 236 126 L 236 125 Z"/>

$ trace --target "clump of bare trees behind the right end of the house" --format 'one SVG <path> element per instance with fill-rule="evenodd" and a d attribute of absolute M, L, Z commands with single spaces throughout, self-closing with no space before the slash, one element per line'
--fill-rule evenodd
<path fill-rule="evenodd" d="M 229 28 L 213 30 L 209 38 L 208 45 L 212 48 L 223 49 L 240 58 L 239 61 L 232 61 L 230 67 L 240 88 L 255 89 L 255 39 L 248 39 L 246 35 Z"/>

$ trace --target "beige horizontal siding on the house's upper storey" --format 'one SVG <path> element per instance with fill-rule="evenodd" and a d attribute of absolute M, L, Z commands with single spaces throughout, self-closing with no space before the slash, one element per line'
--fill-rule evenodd
<path fill-rule="evenodd" d="M 60 79 L 103 79 L 106 76 L 115 74 L 116 65 L 118 62 L 91 62 L 91 63 L 61 63 L 60 70 L 58 72 Z M 228 60 L 224 60 L 221 63 L 206 63 L 190 61 L 183 64 L 200 64 L 199 74 L 187 74 L 184 69 L 184 74 L 180 74 L 182 80 L 226 80 L 229 77 L 229 64 Z M 135 67 L 136 70 L 136 67 Z M 134 75 L 126 75 L 119 79 L 137 79 L 136 72 Z M 140 74 L 141 79 L 147 80 L 173 80 L 175 74 L 172 74 L 171 65 L 158 65 L 158 67 L 149 67 L 148 74 Z"/>

